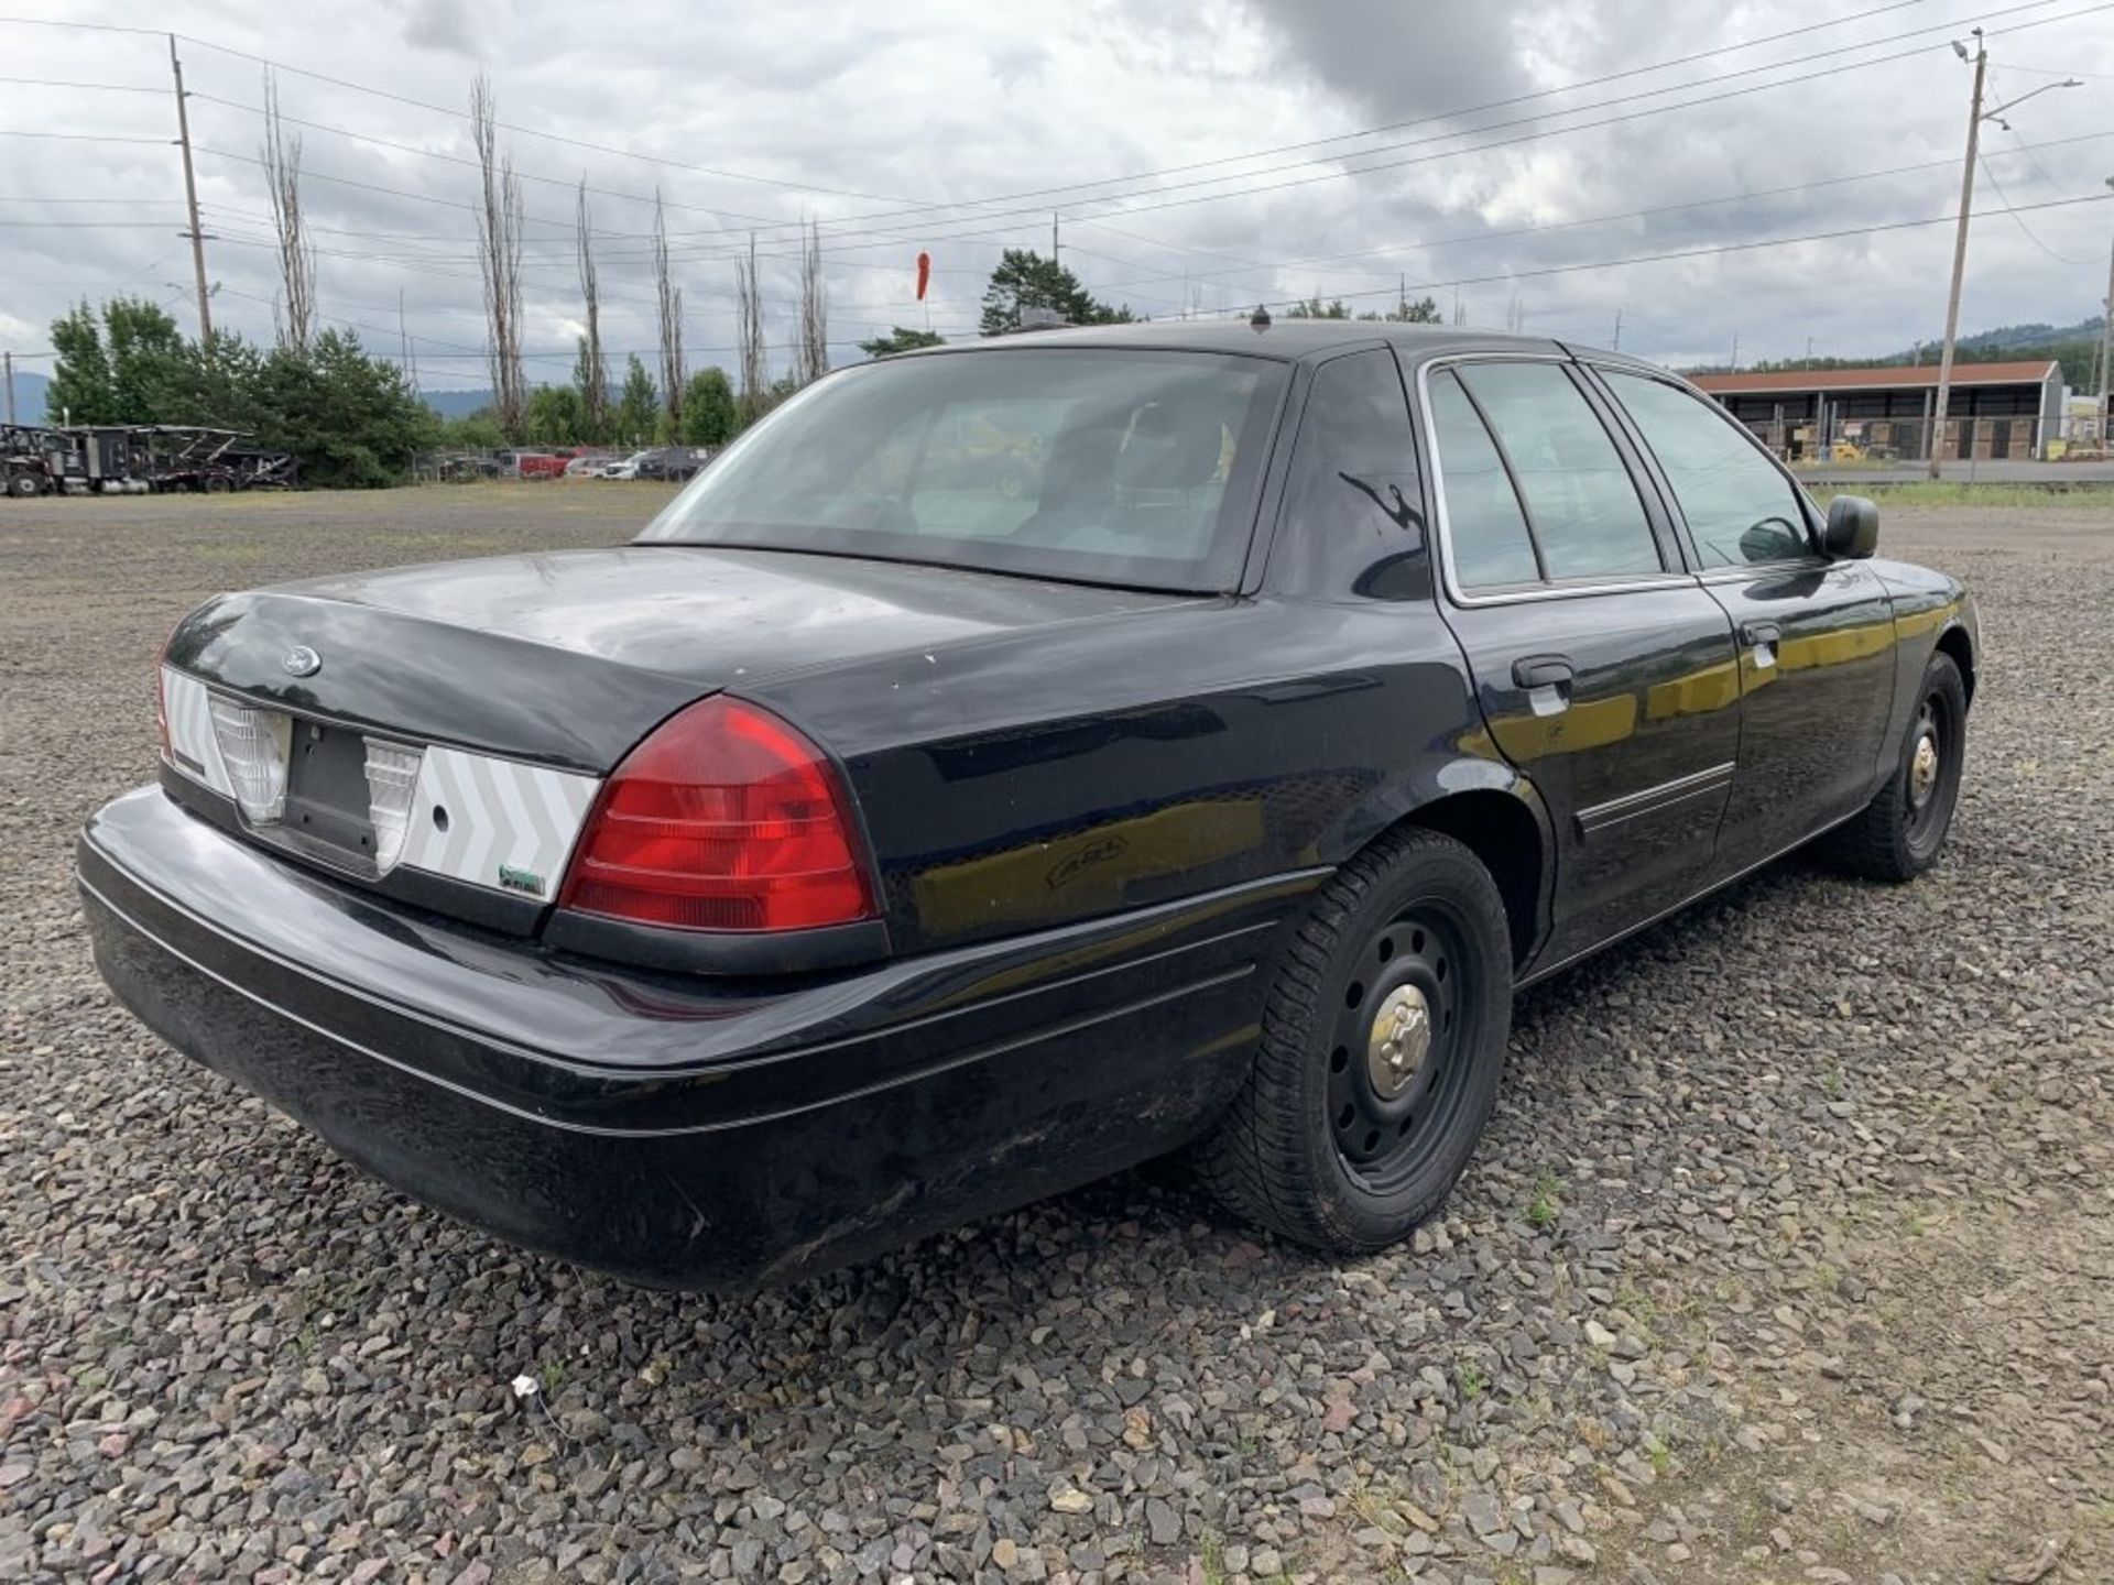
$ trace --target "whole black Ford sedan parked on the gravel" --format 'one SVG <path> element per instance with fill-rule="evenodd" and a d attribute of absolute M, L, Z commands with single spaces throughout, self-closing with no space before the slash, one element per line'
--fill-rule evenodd
<path fill-rule="evenodd" d="M 1550 340 L 937 349 L 630 545 L 201 607 L 80 890 L 171 1046 L 641 1281 L 1177 1148 L 1376 1249 L 1465 1169 L 1520 985 L 1816 837 L 1936 860 L 1974 611 L 1875 535 Z"/>

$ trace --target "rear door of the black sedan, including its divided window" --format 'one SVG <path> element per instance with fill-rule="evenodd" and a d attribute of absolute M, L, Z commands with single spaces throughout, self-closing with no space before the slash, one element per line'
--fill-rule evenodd
<path fill-rule="evenodd" d="M 1708 875 L 1740 731 L 1731 619 L 1566 359 L 1427 363 L 1416 385 L 1442 609 L 1556 826 L 1554 964 Z"/>

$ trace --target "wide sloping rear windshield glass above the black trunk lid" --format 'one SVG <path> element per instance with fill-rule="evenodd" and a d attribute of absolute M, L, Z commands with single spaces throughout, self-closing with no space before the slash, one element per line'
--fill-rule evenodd
<path fill-rule="evenodd" d="M 1055 347 L 865 363 L 744 433 L 641 541 L 1226 590 L 1285 376 Z"/>

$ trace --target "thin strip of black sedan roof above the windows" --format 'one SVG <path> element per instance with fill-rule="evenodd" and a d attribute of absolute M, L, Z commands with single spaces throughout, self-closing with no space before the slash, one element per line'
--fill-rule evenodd
<path fill-rule="evenodd" d="M 1059 330 L 1027 330 L 1008 336 L 977 336 L 970 340 L 926 347 L 896 357 L 953 357 L 960 353 L 991 353 L 1061 347 L 1129 347 L 1190 353 L 1241 353 L 1281 361 L 1321 359 L 1355 347 L 1389 344 L 1404 363 L 1461 353 L 1539 353 L 1543 357 L 1594 357 L 1596 361 L 1651 368 L 1624 353 L 1602 353 L 1592 347 L 1552 340 L 1547 336 L 1505 336 L 1461 325 L 1414 325 L 1385 319 L 1287 319 L 1273 315 L 1271 323 L 1247 319 L 1163 319 L 1131 325 L 1068 325 Z"/>

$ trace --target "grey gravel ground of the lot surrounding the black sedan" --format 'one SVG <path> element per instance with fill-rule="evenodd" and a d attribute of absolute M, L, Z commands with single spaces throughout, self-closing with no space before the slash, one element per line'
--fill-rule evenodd
<path fill-rule="evenodd" d="M 1949 858 L 1791 860 L 1526 995 L 1412 1249 L 1150 1169 L 715 1300 L 171 1057 L 68 858 L 184 607 L 657 499 L 0 503 L 0 1579 L 2114 1579 L 2114 509 L 1888 514 L 1983 602 Z"/>

